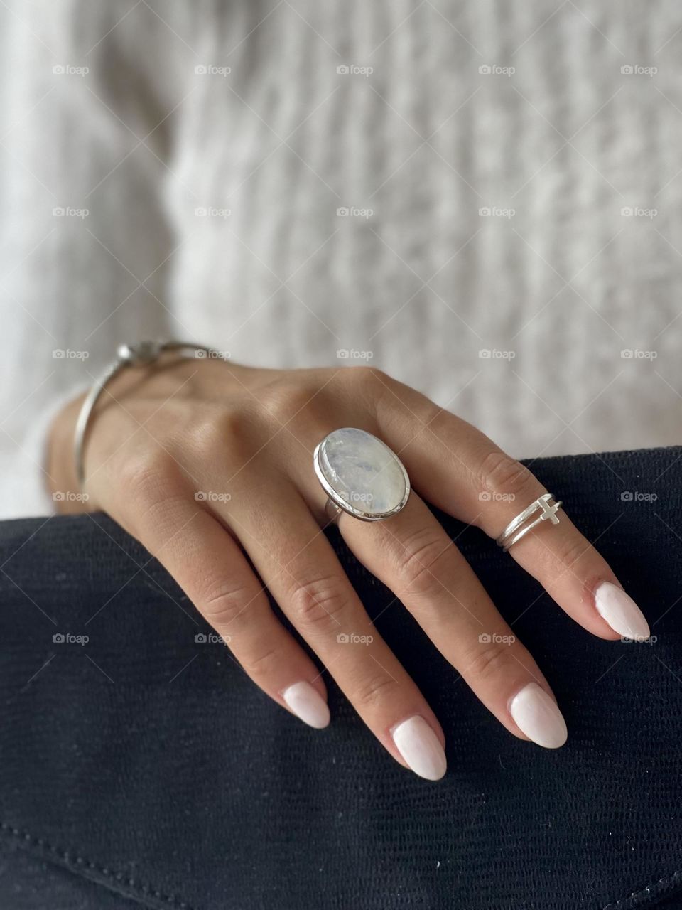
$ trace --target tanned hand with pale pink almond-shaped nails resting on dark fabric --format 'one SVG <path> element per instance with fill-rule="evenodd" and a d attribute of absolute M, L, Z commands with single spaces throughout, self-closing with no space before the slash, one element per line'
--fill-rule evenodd
<path fill-rule="evenodd" d="M 76 489 L 80 403 L 51 433 L 57 490 Z M 414 488 L 386 521 L 343 513 L 339 530 L 350 549 L 510 733 L 562 745 L 566 724 L 547 681 L 425 504 L 496 538 L 547 490 L 483 433 L 379 370 L 251 369 L 172 356 L 127 369 L 106 387 L 88 430 L 87 508 L 107 511 L 165 565 L 264 692 L 324 727 L 321 672 L 276 619 L 246 553 L 388 752 L 436 780 L 446 770 L 436 716 L 321 531 L 326 494 L 312 454 L 339 427 L 384 440 Z M 565 514 L 509 552 L 587 632 L 647 637 L 641 612 Z"/>

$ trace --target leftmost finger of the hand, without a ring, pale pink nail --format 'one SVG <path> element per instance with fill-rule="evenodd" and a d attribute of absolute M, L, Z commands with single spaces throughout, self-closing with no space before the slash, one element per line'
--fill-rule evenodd
<path fill-rule="evenodd" d="M 326 727 L 329 708 L 320 672 L 277 620 L 263 586 L 220 522 L 195 502 L 178 499 L 172 521 L 144 521 L 135 533 L 253 682 L 304 723 Z"/>

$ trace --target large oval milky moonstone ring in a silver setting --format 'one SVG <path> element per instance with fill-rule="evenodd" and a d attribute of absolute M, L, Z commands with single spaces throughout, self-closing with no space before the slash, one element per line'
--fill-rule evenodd
<path fill-rule="evenodd" d="M 327 495 L 326 513 L 380 521 L 405 507 L 410 480 L 403 462 L 366 430 L 334 430 L 316 445 L 313 465 Z"/>

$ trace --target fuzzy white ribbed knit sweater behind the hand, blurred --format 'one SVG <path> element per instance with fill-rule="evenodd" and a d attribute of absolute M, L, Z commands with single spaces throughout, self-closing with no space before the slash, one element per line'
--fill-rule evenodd
<path fill-rule="evenodd" d="M 370 351 L 521 457 L 679 442 L 681 26 L 675 0 L 5 0 L 2 517 L 51 511 L 47 420 L 145 336 Z"/>

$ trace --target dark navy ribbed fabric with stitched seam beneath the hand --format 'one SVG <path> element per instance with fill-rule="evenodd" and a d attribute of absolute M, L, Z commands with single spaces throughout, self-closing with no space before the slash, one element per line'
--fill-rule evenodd
<path fill-rule="evenodd" d="M 328 674 L 326 731 L 271 703 L 195 641 L 206 623 L 104 515 L 0 525 L 0 907 L 682 907 L 682 449 L 533 470 L 657 637 L 591 637 L 494 541 L 438 516 L 547 674 L 569 730 L 557 751 L 507 733 L 329 531 L 443 724 L 435 784 Z"/>

